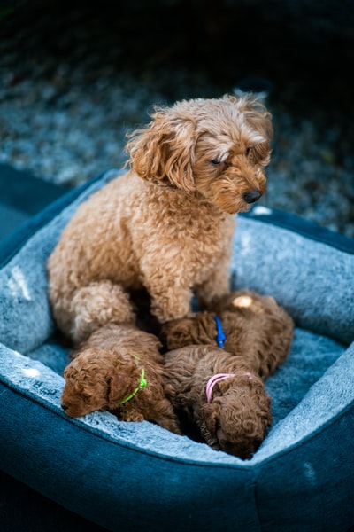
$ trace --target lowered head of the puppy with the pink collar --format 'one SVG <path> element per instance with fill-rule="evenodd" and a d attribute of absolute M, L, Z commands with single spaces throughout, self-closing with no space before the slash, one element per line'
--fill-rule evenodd
<path fill-rule="evenodd" d="M 272 423 L 271 400 L 258 376 L 235 372 L 216 384 L 200 417 L 201 434 L 213 449 L 249 459 Z"/>

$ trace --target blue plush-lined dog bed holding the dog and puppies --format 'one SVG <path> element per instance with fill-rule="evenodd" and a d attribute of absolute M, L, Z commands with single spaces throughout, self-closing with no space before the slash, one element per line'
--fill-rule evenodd
<path fill-rule="evenodd" d="M 267 380 L 273 426 L 242 461 L 147 421 L 60 408 L 68 352 L 45 262 L 82 200 L 65 195 L 0 246 L 0 465 L 110 530 L 338 530 L 354 524 L 354 242 L 265 207 L 239 215 L 233 289 L 272 294 L 296 320 Z"/>

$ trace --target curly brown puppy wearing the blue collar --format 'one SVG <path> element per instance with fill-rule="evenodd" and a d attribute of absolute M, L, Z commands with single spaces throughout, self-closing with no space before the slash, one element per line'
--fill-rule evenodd
<path fill-rule="evenodd" d="M 204 311 L 163 325 L 160 337 L 166 348 L 189 344 L 217 346 L 214 319 L 217 315 L 227 336 L 224 349 L 250 371 L 266 379 L 284 362 L 294 324 L 273 297 L 242 290 L 223 296 L 214 309 L 215 312 Z"/>

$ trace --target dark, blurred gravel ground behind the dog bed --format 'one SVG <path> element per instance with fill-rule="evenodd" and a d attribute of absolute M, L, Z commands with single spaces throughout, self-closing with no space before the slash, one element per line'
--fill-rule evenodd
<path fill-rule="evenodd" d="M 350 1 L 20 1 L 0 8 L 0 161 L 75 186 L 154 104 L 266 88 L 261 204 L 354 237 Z M 74 7 L 73 7 L 74 6 Z"/>

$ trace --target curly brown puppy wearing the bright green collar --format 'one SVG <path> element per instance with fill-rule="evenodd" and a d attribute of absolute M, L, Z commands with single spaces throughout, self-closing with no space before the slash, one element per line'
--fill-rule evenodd
<path fill-rule="evenodd" d="M 62 408 L 72 417 L 107 409 L 123 421 L 147 419 L 181 434 L 165 397 L 160 347 L 157 337 L 135 325 L 104 325 L 65 368 Z"/>

